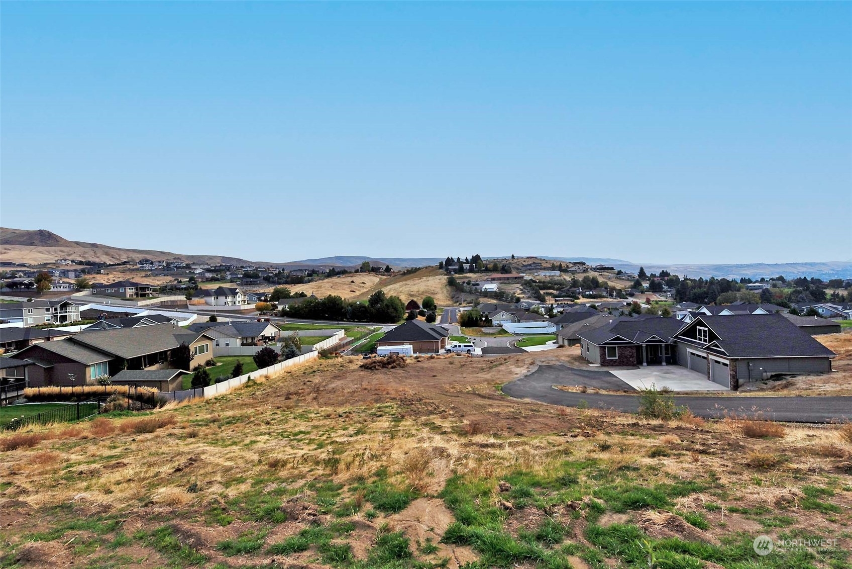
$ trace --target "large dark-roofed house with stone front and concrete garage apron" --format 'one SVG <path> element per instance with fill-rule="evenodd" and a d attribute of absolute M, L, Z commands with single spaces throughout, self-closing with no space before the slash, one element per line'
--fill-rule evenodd
<path fill-rule="evenodd" d="M 602 366 L 677 364 L 736 390 L 772 374 L 832 370 L 833 351 L 780 314 L 618 318 L 578 333 L 580 353 Z"/>

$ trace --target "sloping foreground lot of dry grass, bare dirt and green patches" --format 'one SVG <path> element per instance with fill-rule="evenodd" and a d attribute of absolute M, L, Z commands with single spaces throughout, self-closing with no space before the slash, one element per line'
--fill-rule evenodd
<path fill-rule="evenodd" d="M 0 566 L 849 567 L 852 427 L 498 392 L 554 357 L 320 360 L 0 435 Z M 762 534 L 838 541 L 763 557 Z"/>

